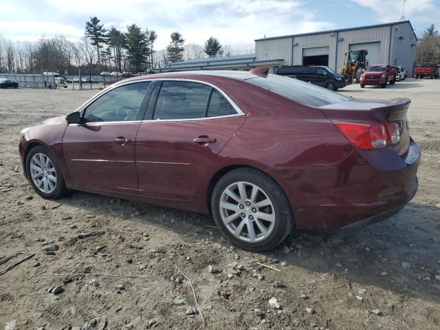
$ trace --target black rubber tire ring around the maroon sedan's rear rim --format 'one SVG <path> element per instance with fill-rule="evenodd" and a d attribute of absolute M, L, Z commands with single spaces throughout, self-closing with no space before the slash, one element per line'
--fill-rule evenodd
<path fill-rule="evenodd" d="M 231 184 L 239 181 L 246 181 L 250 184 L 255 184 L 264 190 L 267 197 L 274 206 L 274 228 L 267 238 L 262 241 L 250 243 L 243 241 L 234 236 L 221 219 L 219 203 L 223 191 Z M 211 198 L 211 210 L 214 221 L 217 224 L 221 234 L 225 236 L 234 245 L 239 246 L 245 250 L 252 250 L 255 252 L 263 252 L 276 248 L 287 235 L 294 228 L 294 220 L 290 210 L 290 204 L 280 186 L 265 173 L 254 168 L 236 168 L 235 170 L 226 173 L 214 187 Z"/>

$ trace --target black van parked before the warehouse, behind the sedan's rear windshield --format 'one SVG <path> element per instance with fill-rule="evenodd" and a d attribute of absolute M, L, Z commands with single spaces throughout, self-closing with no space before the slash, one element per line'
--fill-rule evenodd
<path fill-rule="evenodd" d="M 284 66 L 278 67 L 278 69 L 276 69 L 276 74 L 290 78 L 297 78 L 307 83 L 325 87 L 331 91 L 337 91 L 338 89 L 345 87 L 344 76 L 337 74 L 329 67 L 324 66 Z"/>

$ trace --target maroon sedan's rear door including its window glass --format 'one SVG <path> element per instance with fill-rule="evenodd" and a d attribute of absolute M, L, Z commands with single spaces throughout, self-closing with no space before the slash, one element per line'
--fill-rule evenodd
<path fill-rule="evenodd" d="M 136 138 L 142 195 L 188 200 L 245 115 L 223 91 L 190 80 L 159 80 Z"/>

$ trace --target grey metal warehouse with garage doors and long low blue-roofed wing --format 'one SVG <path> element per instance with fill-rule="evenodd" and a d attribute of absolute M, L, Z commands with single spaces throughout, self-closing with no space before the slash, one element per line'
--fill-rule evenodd
<path fill-rule="evenodd" d="M 417 36 L 410 21 L 362 26 L 325 32 L 289 34 L 256 39 L 255 54 L 169 63 L 153 72 L 235 69 L 281 65 L 327 65 L 338 72 L 349 50 L 368 50 L 370 64 L 389 63 L 412 74 L 417 56 Z"/>

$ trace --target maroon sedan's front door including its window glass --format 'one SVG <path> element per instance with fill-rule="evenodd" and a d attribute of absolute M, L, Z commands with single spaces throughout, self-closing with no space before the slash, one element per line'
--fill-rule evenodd
<path fill-rule="evenodd" d="M 69 124 L 63 153 L 73 186 L 138 194 L 135 137 L 145 113 L 151 81 L 132 82 L 102 94 Z"/>

